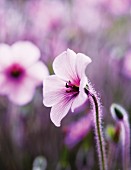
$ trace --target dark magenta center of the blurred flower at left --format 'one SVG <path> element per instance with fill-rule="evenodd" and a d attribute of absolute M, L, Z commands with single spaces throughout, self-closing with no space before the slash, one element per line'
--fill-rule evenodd
<path fill-rule="evenodd" d="M 20 66 L 19 64 L 13 64 L 7 70 L 7 75 L 10 78 L 13 78 L 16 80 L 22 78 L 24 73 L 25 73 L 24 68 Z"/>

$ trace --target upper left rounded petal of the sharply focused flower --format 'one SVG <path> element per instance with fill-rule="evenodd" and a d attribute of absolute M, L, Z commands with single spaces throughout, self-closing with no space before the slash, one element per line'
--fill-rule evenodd
<path fill-rule="evenodd" d="M 65 81 L 74 82 L 77 79 L 76 74 L 76 53 L 70 49 L 57 56 L 53 62 L 55 74 Z"/>

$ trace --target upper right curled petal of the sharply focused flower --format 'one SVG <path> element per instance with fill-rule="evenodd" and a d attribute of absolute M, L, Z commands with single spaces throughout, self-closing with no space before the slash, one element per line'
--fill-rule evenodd
<path fill-rule="evenodd" d="M 85 73 L 87 65 L 91 63 L 91 59 L 85 54 L 78 53 L 76 58 L 76 72 L 81 79 L 83 73 Z"/>

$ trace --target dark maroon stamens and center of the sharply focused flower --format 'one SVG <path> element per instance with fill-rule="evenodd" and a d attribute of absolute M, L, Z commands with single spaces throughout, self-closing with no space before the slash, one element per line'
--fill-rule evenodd
<path fill-rule="evenodd" d="M 72 84 L 71 81 L 66 83 L 65 87 L 67 88 L 66 90 L 67 93 L 74 93 L 74 94 L 79 93 L 79 86 Z"/>

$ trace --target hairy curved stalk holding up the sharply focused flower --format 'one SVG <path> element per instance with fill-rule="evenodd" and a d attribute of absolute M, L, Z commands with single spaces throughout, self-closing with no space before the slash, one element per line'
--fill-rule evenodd
<path fill-rule="evenodd" d="M 95 112 L 94 113 L 94 123 L 95 123 L 95 135 L 97 141 L 97 150 L 98 150 L 98 157 L 100 163 L 101 170 L 107 170 L 107 161 L 105 156 L 105 142 L 102 134 L 102 127 L 101 127 L 101 115 L 100 115 L 100 103 L 97 99 L 95 92 L 94 94 L 89 91 L 88 86 L 85 88 L 85 93 L 91 97 L 91 100 L 94 103 Z"/>

